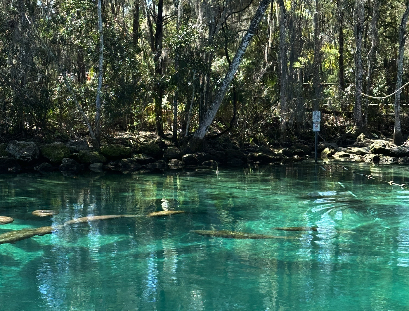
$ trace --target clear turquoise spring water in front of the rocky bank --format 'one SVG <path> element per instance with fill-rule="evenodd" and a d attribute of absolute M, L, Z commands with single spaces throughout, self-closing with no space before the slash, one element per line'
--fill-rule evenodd
<path fill-rule="evenodd" d="M 406 166 L 313 162 L 173 175 L 0 175 L 10 230 L 109 214 L 0 245 L 2 311 L 408 310 Z M 33 210 L 59 214 L 36 217 Z M 290 232 L 273 227 L 316 226 Z M 290 239 L 226 239 L 234 230 Z"/>

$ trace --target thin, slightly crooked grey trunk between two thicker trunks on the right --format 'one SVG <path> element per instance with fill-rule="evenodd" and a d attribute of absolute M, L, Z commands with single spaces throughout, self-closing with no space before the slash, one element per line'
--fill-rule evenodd
<path fill-rule="evenodd" d="M 366 94 L 369 95 L 371 92 L 371 74 L 372 74 L 372 67 L 373 67 L 373 59 L 375 56 L 376 46 L 378 44 L 378 0 L 373 0 L 373 9 L 372 9 L 372 20 L 371 20 L 371 49 L 368 52 L 367 56 L 367 64 L 368 70 L 366 72 Z M 364 126 L 368 126 L 368 113 L 369 113 L 369 97 L 365 99 L 365 109 L 364 109 Z"/>

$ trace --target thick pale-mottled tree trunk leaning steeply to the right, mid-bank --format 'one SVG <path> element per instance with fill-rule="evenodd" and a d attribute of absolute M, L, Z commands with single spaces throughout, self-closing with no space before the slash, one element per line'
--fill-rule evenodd
<path fill-rule="evenodd" d="M 250 23 L 249 29 L 247 30 L 245 36 L 243 37 L 243 40 L 241 41 L 236 51 L 236 55 L 234 55 L 234 58 L 231 61 L 226 76 L 223 79 L 220 88 L 218 89 L 218 92 L 216 93 L 216 96 L 213 99 L 212 104 L 210 105 L 209 109 L 207 109 L 207 111 L 205 112 L 205 115 L 201 120 L 202 122 L 199 123 L 198 129 L 195 131 L 191 141 L 189 142 L 189 146 L 191 147 L 191 149 L 193 150 L 197 149 L 200 145 L 200 142 L 205 137 L 206 132 L 211 122 L 213 121 L 214 117 L 216 116 L 217 110 L 219 109 L 223 98 L 225 97 L 227 88 L 230 85 L 231 80 L 233 79 L 234 74 L 238 69 L 238 66 L 240 65 L 240 61 L 243 58 L 245 51 L 247 50 L 247 46 L 249 45 L 251 39 L 253 38 L 254 32 L 256 31 L 261 18 L 263 18 L 270 1 L 271 0 L 261 0 L 260 5 L 258 6 L 258 9 L 256 11 L 256 14 L 254 15 Z"/>

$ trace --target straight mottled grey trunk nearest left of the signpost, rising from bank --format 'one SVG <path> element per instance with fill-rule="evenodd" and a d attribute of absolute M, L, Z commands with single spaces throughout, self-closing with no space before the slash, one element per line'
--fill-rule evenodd
<path fill-rule="evenodd" d="M 287 138 L 287 46 L 285 44 L 285 38 L 287 32 L 285 27 L 287 26 L 287 11 L 285 9 L 284 1 L 278 0 L 280 7 L 279 10 L 279 48 L 280 48 L 280 63 L 281 63 L 281 79 L 280 79 L 280 114 L 281 114 L 281 134 L 280 140 L 285 141 Z"/>

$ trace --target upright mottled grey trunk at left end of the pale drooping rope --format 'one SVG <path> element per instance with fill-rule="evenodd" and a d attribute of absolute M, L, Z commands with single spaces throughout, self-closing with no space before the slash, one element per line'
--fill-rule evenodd
<path fill-rule="evenodd" d="M 364 1 L 356 0 L 354 8 L 354 37 L 355 37 L 355 106 L 354 122 L 357 131 L 362 130 L 362 34 L 364 32 Z"/>

